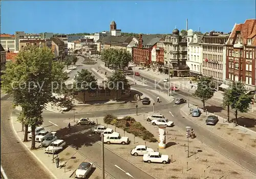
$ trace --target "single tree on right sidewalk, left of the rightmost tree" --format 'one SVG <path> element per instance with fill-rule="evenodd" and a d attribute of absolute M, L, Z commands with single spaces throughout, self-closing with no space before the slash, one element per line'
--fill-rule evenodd
<path fill-rule="evenodd" d="M 212 84 L 211 77 L 201 77 L 198 80 L 197 89 L 195 91 L 195 96 L 199 97 L 203 102 L 205 111 L 205 101 L 214 96 L 214 84 Z"/>

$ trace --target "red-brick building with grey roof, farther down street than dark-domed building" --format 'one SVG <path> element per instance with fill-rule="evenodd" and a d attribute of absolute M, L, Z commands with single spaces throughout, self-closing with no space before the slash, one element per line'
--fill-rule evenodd
<path fill-rule="evenodd" d="M 152 50 L 157 42 L 163 42 L 163 38 L 156 35 L 139 35 L 139 42 L 133 48 L 134 62 L 139 66 L 150 68 L 152 65 Z"/>

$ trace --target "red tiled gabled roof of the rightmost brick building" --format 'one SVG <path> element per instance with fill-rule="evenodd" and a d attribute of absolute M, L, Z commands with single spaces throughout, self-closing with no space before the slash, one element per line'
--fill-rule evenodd
<path fill-rule="evenodd" d="M 256 45 L 256 19 L 246 19 L 244 24 L 236 25 L 231 32 L 230 38 L 234 38 L 237 31 L 241 31 L 244 44 L 247 44 L 247 39 L 249 38 L 252 39 L 251 44 Z"/>

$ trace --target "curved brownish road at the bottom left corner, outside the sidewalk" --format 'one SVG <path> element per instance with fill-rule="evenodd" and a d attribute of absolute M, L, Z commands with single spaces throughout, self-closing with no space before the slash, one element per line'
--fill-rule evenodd
<path fill-rule="evenodd" d="M 20 144 L 11 128 L 11 101 L 1 99 L 1 165 L 8 178 L 53 178 L 30 151 Z M 36 171 L 36 172 L 35 172 Z"/>

